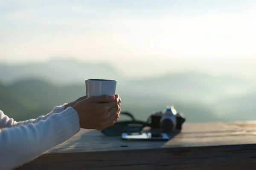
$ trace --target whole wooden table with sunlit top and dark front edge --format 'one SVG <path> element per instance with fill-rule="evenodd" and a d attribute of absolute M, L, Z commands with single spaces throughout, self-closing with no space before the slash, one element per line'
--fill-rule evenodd
<path fill-rule="evenodd" d="M 169 141 L 81 130 L 17 170 L 256 170 L 256 121 L 185 123 Z"/>

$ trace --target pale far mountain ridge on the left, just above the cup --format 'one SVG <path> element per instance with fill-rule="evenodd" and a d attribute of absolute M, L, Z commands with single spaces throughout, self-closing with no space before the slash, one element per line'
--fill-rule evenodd
<path fill-rule="evenodd" d="M 18 65 L 0 63 L 1 81 L 11 83 L 24 78 L 40 78 L 54 84 L 76 84 L 87 78 L 121 80 L 122 76 L 113 67 L 104 63 L 79 63 L 64 59 Z"/>

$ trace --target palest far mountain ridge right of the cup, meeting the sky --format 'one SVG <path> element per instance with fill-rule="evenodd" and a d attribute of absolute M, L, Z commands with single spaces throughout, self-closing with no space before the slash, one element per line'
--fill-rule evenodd
<path fill-rule="evenodd" d="M 200 72 L 181 72 L 127 82 L 126 91 L 169 95 L 179 101 L 211 104 L 222 98 L 256 91 L 256 83 L 234 77 L 213 77 Z"/>

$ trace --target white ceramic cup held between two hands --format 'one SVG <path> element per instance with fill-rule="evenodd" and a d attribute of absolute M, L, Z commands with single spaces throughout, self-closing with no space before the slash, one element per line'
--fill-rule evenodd
<path fill-rule="evenodd" d="M 87 79 L 85 80 L 85 86 L 87 98 L 116 94 L 116 80 Z"/>

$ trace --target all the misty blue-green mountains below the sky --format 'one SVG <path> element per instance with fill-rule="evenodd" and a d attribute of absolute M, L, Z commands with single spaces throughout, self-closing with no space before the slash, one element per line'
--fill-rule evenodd
<path fill-rule="evenodd" d="M 254 80 L 192 71 L 131 79 L 103 63 L 72 60 L 0 64 L 0 109 L 17 120 L 35 118 L 85 95 L 87 78 L 118 80 L 122 110 L 143 120 L 166 105 L 174 105 L 190 122 L 256 119 Z"/>

